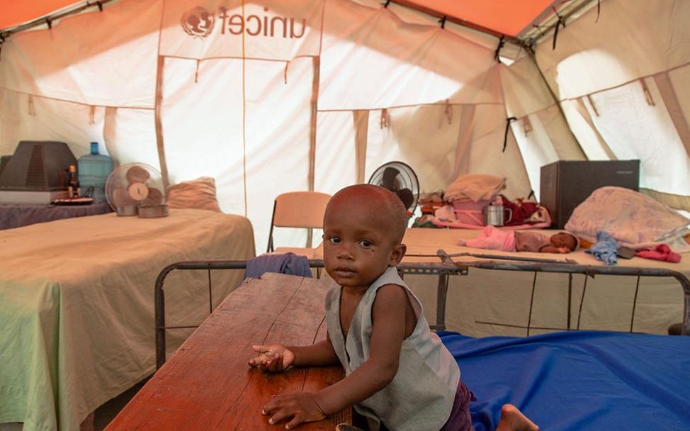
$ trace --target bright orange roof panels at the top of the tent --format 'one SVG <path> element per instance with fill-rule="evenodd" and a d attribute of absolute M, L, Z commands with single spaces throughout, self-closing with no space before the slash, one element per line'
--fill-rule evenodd
<path fill-rule="evenodd" d="M 451 21 L 488 30 L 489 33 L 519 37 L 553 15 L 572 0 L 392 0 Z M 68 6 L 87 2 L 74 0 L 5 0 L 0 3 L 0 30 L 49 16 Z M 91 1 L 96 4 L 96 1 Z M 104 2 L 105 3 L 105 2 Z"/>

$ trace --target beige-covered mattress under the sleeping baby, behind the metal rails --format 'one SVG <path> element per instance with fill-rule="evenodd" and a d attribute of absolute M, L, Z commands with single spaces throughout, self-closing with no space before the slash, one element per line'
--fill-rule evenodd
<path fill-rule="evenodd" d="M 553 235 L 553 230 L 537 230 Z M 436 254 L 445 250 L 448 254 L 459 252 L 490 253 L 506 257 L 536 257 L 538 259 L 572 259 L 579 264 L 605 266 L 592 254 L 578 250 L 569 254 L 550 253 L 508 253 L 479 250 L 456 245 L 459 238 L 470 239 L 478 230 L 463 229 L 408 229 L 405 235 L 407 254 L 404 262 L 439 262 L 434 257 L 413 257 L 413 254 Z M 681 255 L 680 263 L 633 257 L 618 259 L 621 267 L 667 268 L 683 273 L 690 278 L 690 253 Z M 456 261 L 477 260 L 474 257 L 456 257 Z M 446 301 L 446 325 L 466 335 L 484 337 L 489 335 L 526 335 L 524 328 L 490 325 L 490 322 L 516 327 L 526 327 L 529 310 L 532 308 L 531 327 L 567 328 L 568 275 L 538 273 L 534 301 L 531 304 L 533 272 L 498 271 L 470 268 L 468 276 L 451 276 Z M 571 328 L 577 327 L 579 301 L 582 296 L 585 277 L 574 274 L 572 278 Z M 419 296 L 424 313 L 430 323 L 436 320 L 436 276 L 408 275 L 405 281 Z M 597 275 L 587 280 L 587 289 L 579 318 L 580 329 L 630 330 L 636 276 Z M 649 277 L 640 279 L 633 331 L 665 334 L 672 323 L 683 319 L 683 291 L 672 277 Z M 530 330 L 530 335 L 550 330 Z"/>

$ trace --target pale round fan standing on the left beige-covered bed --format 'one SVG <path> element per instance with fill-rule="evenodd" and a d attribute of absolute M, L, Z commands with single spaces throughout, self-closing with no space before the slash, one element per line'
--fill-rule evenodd
<path fill-rule="evenodd" d="M 106 199 L 118 215 L 168 215 L 163 190 L 161 173 L 144 163 L 120 165 L 106 179 Z"/>

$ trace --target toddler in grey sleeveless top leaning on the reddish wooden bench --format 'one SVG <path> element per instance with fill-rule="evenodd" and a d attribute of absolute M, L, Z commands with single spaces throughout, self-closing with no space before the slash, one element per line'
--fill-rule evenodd
<path fill-rule="evenodd" d="M 326 296 L 327 339 L 310 346 L 257 345 L 250 366 L 341 364 L 346 377 L 317 393 L 276 396 L 264 406 L 268 422 L 322 420 L 352 406 L 353 422 L 368 430 L 472 430 L 472 395 L 422 305 L 395 266 L 405 256 L 405 207 L 379 186 L 336 193 L 324 215 L 324 265 L 333 283 Z M 339 429 L 360 428 L 339 425 Z M 536 431 L 513 405 L 497 430 Z"/>

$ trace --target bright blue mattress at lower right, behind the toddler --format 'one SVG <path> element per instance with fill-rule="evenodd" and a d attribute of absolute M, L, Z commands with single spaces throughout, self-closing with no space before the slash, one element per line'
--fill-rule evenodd
<path fill-rule="evenodd" d="M 470 405 L 476 431 L 493 430 L 504 403 L 545 431 L 690 430 L 690 337 L 439 336 L 477 398 Z"/>

